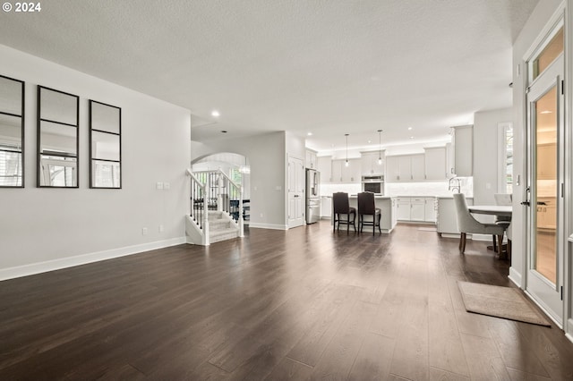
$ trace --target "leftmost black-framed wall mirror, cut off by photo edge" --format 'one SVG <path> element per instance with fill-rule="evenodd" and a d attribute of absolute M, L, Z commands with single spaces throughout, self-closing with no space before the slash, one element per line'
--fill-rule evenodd
<path fill-rule="evenodd" d="M 0 187 L 24 186 L 24 82 L 0 75 Z"/>

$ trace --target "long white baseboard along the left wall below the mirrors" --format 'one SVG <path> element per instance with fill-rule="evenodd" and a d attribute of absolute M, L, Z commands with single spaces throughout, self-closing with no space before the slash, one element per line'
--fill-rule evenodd
<path fill-rule="evenodd" d="M 100 260 L 124 257 L 132 254 L 139 254 L 143 251 L 167 248 L 169 246 L 181 245 L 186 242 L 185 237 L 172 238 L 164 241 L 154 241 L 142 243 L 140 245 L 126 246 L 124 248 L 98 251 L 90 254 L 82 254 L 74 257 L 59 258 L 45 262 L 32 263 L 30 265 L 8 267 L 0 269 L 0 281 L 6 279 L 20 278 L 21 276 L 46 273 L 47 271 L 60 270 L 66 267 L 85 265 Z"/>

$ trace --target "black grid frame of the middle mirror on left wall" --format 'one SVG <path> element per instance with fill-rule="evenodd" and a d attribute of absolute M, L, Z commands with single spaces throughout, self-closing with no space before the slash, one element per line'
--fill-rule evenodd
<path fill-rule="evenodd" d="M 48 119 L 43 119 L 42 116 L 42 110 L 41 110 L 41 93 L 42 90 L 46 90 L 46 91 L 54 91 L 56 93 L 59 94 L 63 94 L 65 96 L 68 97 L 74 97 L 75 98 L 75 124 L 71 124 L 71 123 L 62 123 L 62 122 L 58 122 L 58 121 L 53 121 L 53 120 L 48 120 Z M 75 156 L 70 155 L 70 154 L 62 154 L 62 155 L 58 155 L 56 152 L 50 152 L 48 154 L 46 154 L 46 156 L 48 157 L 74 157 L 75 158 L 75 185 L 70 185 L 70 186 L 56 186 L 56 185 L 42 185 L 41 183 L 41 176 L 44 175 L 44 171 L 42 171 L 42 156 L 44 154 L 42 154 L 42 141 L 41 141 L 41 123 L 42 122 L 48 122 L 48 123 L 56 123 L 56 124 L 61 124 L 61 125 L 65 125 L 65 126 L 69 126 L 71 128 L 75 128 L 76 129 L 76 134 L 75 134 Z M 80 97 L 70 94 L 70 93 L 66 93 L 64 91 L 60 91 L 60 90 L 56 90 L 56 89 L 50 89 L 44 86 L 40 86 L 38 85 L 38 131 L 37 131 L 37 139 L 38 139 L 38 168 L 37 168 L 37 181 L 38 181 L 38 188 L 79 188 L 80 187 Z"/>

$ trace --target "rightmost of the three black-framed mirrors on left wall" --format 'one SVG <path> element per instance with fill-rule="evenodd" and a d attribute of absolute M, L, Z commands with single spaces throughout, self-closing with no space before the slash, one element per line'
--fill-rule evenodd
<path fill-rule="evenodd" d="M 122 187 L 122 109 L 90 100 L 90 188 Z"/>

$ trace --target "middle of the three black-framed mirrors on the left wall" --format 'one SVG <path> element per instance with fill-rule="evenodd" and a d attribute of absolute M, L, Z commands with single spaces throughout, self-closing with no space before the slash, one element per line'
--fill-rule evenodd
<path fill-rule="evenodd" d="M 78 188 L 80 97 L 38 86 L 38 186 Z"/>

